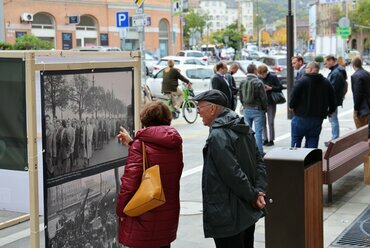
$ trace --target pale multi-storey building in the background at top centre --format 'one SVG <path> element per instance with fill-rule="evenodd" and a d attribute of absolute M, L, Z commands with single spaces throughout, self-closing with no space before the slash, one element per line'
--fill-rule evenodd
<path fill-rule="evenodd" d="M 201 0 L 198 10 L 209 16 L 209 33 L 241 20 L 245 34 L 253 35 L 253 2 L 250 0 Z"/>

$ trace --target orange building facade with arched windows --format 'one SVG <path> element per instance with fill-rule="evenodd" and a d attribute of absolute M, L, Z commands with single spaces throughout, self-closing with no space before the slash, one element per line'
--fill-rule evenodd
<path fill-rule="evenodd" d="M 140 45 L 137 29 L 116 25 L 117 12 L 127 11 L 132 17 L 136 9 L 134 0 L 4 1 L 5 41 L 14 43 L 27 33 L 52 42 L 56 49 L 103 45 L 136 50 Z M 150 16 L 150 25 L 145 27 L 146 50 L 164 56 L 181 49 L 182 26 L 177 16 L 173 17 L 171 43 L 171 1 L 148 1 L 144 9 Z"/>

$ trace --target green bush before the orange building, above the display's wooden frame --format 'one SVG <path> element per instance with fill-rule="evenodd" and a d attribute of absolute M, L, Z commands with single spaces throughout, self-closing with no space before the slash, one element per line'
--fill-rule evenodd
<path fill-rule="evenodd" d="M 41 40 L 32 34 L 18 37 L 14 44 L 14 50 L 49 50 L 53 44 L 49 41 Z"/>

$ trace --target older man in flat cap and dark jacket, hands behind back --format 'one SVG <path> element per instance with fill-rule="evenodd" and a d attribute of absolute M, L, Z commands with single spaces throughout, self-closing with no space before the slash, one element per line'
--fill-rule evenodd
<path fill-rule="evenodd" d="M 217 248 L 253 248 L 255 223 L 264 216 L 266 171 L 253 132 L 218 90 L 195 97 L 210 133 L 203 148 L 203 228 Z"/>

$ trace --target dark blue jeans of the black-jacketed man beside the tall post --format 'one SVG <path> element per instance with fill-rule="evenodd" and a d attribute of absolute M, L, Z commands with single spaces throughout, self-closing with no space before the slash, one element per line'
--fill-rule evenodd
<path fill-rule="evenodd" d="M 317 148 L 322 121 L 320 117 L 294 116 L 291 123 L 291 147 L 301 147 L 305 137 L 305 148 Z"/>

